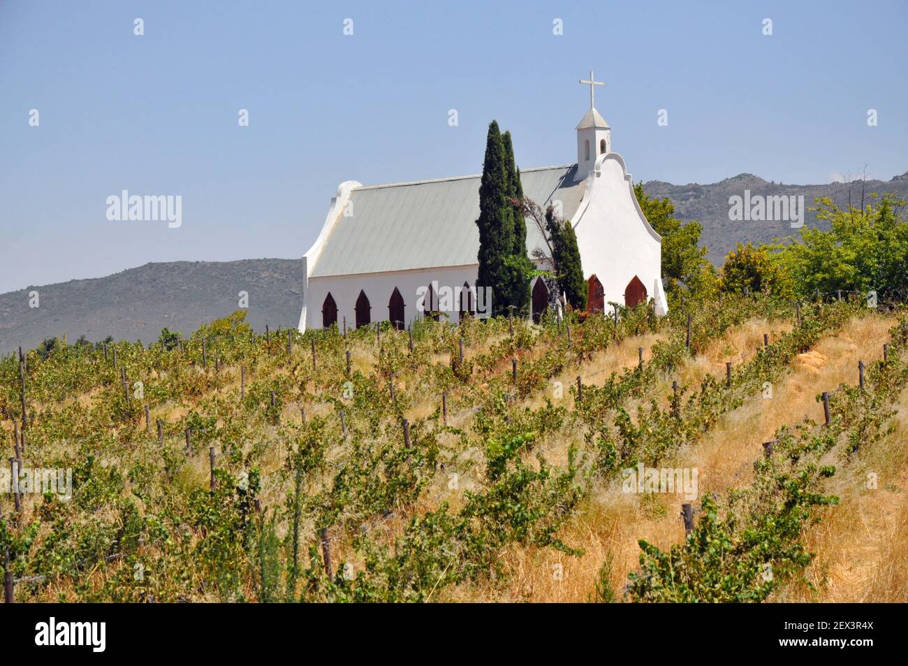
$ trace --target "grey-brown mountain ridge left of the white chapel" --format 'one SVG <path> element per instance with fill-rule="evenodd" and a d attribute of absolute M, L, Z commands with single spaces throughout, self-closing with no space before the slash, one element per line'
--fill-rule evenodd
<path fill-rule="evenodd" d="M 164 327 L 183 334 L 240 307 L 257 330 L 296 326 L 302 305 L 301 259 L 145 263 L 104 277 L 30 285 L 0 294 L 0 352 L 49 337 L 74 343 L 156 341 Z M 30 307 L 30 293 L 38 307 Z"/>

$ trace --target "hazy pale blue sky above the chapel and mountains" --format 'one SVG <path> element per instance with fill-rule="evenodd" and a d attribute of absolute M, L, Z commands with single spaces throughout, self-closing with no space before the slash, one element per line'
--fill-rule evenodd
<path fill-rule="evenodd" d="M 341 181 L 478 173 L 492 118 L 520 166 L 572 163 L 590 68 L 636 180 L 888 180 L 906 24 L 905 2 L 0 0 L 0 292 L 299 257 Z M 183 225 L 109 222 L 123 189 L 182 195 Z"/>

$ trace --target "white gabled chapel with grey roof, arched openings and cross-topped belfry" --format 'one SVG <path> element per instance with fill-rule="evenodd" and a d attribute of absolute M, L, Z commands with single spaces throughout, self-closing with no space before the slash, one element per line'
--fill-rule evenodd
<path fill-rule="evenodd" d="M 590 86 L 590 105 L 577 124 L 577 161 L 521 169 L 523 192 L 543 210 L 555 204 L 573 225 L 588 311 L 652 300 L 662 315 L 668 310 L 660 272 L 662 240 L 640 210 L 624 158 L 612 150 L 611 128 L 594 105 L 594 85 L 601 83 L 589 74 L 588 81 L 580 81 Z M 439 311 L 457 323 L 473 312 L 480 177 L 341 183 L 321 233 L 303 255 L 300 331 L 385 320 L 404 328 Z M 528 220 L 528 256 L 548 268 L 537 248 L 548 253 L 536 224 Z M 555 299 L 540 277 L 531 287 L 535 319 Z M 459 293 L 455 303 L 439 300 L 446 289 Z"/>

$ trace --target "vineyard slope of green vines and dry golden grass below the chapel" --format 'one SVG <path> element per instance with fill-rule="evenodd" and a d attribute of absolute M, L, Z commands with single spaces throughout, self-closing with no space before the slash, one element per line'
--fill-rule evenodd
<path fill-rule="evenodd" d="M 25 377 L 23 465 L 73 479 L 0 499 L 16 599 L 905 598 L 898 310 L 725 295 L 569 324 L 421 322 L 411 348 L 238 314 L 6 359 L 5 442 Z M 696 498 L 627 492 L 639 463 L 696 470 Z"/>

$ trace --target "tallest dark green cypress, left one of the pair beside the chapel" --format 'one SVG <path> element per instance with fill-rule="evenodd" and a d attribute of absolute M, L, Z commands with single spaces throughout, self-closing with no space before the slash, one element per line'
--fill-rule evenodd
<path fill-rule="evenodd" d="M 478 287 L 491 287 L 492 314 L 508 313 L 508 269 L 514 247 L 514 209 L 508 202 L 513 187 L 508 178 L 508 157 L 498 123 L 489 123 L 486 155 L 479 184 L 479 273 Z"/>

